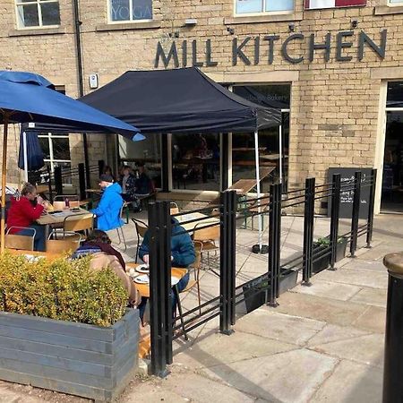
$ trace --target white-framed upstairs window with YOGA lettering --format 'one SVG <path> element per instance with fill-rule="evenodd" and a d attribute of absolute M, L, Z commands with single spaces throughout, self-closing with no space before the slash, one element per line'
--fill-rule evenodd
<path fill-rule="evenodd" d="M 150 21 L 152 0 L 107 0 L 109 21 Z"/>

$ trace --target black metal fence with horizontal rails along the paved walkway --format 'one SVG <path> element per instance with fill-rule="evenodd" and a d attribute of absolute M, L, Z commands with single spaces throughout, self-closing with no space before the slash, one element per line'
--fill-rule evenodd
<path fill-rule="evenodd" d="M 349 243 L 351 257 L 356 255 L 358 238 L 366 236 L 370 247 L 373 235 L 373 207 L 376 185 L 376 170 L 363 178 L 356 172 L 354 184 L 341 184 L 340 176 L 334 175 L 329 184 L 315 184 L 314 178 L 306 179 L 302 189 L 282 193 L 281 184 L 270 186 L 270 194 L 260 198 L 240 200 L 235 191 L 220 194 L 219 204 L 205 209 L 175 214 L 171 220 L 170 201 L 155 201 L 149 205 L 150 221 L 150 326 L 151 326 L 151 369 L 159 376 L 167 374 L 167 364 L 173 360 L 174 339 L 206 322 L 219 317 L 219 331 L 229 335 L 236 323 L 236 307 L 245 301 L 262 297 L 262 303 L 277 306 L 281 292 L 296 284 L 298 271 L 302 271 L 303 284 L 311 285 L 316 263 L 325 262 L 323 269 L 335 270 L 339 259 L 339 244 Z M 368 215 L 364 224 L 359 221 L 362 208 L 361 191 L 370 188 Z M 349 219 L 349 231 L 339 234 L 340 194 L 353 194 L 353 212 Z M 329 235 L 322 238 L 322 244 L 314 241 L 315 207 L 321 201 L 330 202 Z M 283 217 L 304 213 L 304 234 L 302 250 L 297 256 L 282 262 L 281 223 Z M 202 213 L 202 217 L 196 217 Z M 267 271 L 262 275 L 236 285 L 236 227 L 237 221 L 245 217 L 269 218 Z M 214 220 L 215 221 L 211 221 Z M 210 220 L 210 221 L 209 221 Z M 190 226 L 192 224 L 192 226 Z M 345 223 L 346 224 L 346 223 Z M 172 298 L 180 297 L 176 287 L 171 287 L 171 242 L 172 236 L 188 233 L 192 236 L 194 226 L 219 226 L 219 291 L 216 296 L 197 304 L 184 312 L 179 304 L 179 313 L 174 314 Z M 181 226 L 181 227 L 179 227 Z M 191 229 L 184 229 L 190 227 Z M 175 228 L 182 228 L 178 232 Z M 174 235 L 172 235 L 174 233 Z M 263 255 L 262 255 L 263 256 Z M 263 259 L 263 257 L 262 257 Z M 283 259 L 284 261 L 284 259 Z M 245 292 L 245 289 L 248 292 Z"/>

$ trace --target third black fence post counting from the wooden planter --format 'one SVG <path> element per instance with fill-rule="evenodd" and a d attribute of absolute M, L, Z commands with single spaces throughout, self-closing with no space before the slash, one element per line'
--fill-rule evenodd
<path fill-rule="evenodd" d="M 269 213 L 269 278 L 270 296 L 268 304 L 278 306 L 280 276 L 280 236 L 281 236 L 281 184 L 270 185 Z"/>

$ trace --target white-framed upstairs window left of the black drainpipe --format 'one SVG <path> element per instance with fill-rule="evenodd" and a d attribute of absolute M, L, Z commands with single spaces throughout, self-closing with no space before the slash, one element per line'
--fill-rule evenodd
<path fill-rule="evenodd" d="M 60 25 L 58 0 L 16 0 L 18 28 Z"/>

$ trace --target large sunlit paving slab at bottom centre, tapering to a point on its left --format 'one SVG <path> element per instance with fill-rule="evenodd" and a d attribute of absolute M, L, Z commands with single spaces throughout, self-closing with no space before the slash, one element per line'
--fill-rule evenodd
<path fill-rule="evenodd" d="M 287 363 L 287 364 L 286 364 Z M 270 402 L 303 403 L 333 371 L 336 358 L 305 348 L 202 370 L 245 393 Z"/>

